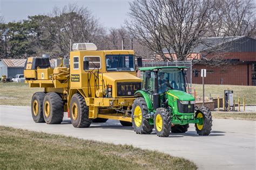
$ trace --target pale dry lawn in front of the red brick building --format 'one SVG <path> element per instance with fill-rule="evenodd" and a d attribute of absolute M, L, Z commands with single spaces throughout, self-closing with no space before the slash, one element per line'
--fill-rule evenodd
<path fill-rule="evenodd" d="M 200 97 L 203 100 L 203 85 L 192 84 L 192 87 L 196 89 L 197 98 Z M 242 104 L 242 97 L 245 97 L 245 104 L 256 104 L 256 86 L 234 86 L 234 85 L 213 85 L 205 84 L 205 97 L 223 97 L 224 90 L 233 90 L 235 103 L 238 103 L 238 97 L 240 97 L 240 103 Z"/>

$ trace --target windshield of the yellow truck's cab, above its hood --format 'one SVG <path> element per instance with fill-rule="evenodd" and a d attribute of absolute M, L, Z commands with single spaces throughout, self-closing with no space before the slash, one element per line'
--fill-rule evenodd
<path fill-rule="evenodd" d="M 106 69 L 109 72 L 133 72 L 133 55 L 106 55 Z"/>

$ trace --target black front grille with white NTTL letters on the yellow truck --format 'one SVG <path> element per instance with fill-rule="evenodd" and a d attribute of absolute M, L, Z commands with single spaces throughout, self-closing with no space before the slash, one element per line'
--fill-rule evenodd
<path fill-rule="evenodd" d="M 140 82 L 117 82 L 117 96 L 133 96 L 140 86 Z"/>

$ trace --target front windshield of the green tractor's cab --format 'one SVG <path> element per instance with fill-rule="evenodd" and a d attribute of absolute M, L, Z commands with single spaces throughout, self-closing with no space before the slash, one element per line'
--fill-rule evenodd
<path fill-rule="evenodd" d="M 186 91 L 184 74 L 177 68 L 161 69 L 158 73 L 158 93 L 169 89 Z"/>

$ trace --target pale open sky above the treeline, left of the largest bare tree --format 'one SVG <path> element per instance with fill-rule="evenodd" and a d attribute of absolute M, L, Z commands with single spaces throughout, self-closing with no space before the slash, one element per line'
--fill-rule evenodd
<path fill-rule="evenodd" d="M 69 3 L 87 6 L 105 27 L 120 27 L 127 18 L 132 0 L 0 0 L 0 15 L 5 22 L 19 21 L 28 16 L 43 15 L 54 6 L 62 8 Z"/>

